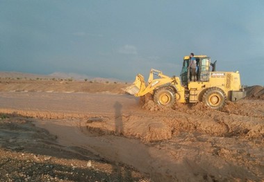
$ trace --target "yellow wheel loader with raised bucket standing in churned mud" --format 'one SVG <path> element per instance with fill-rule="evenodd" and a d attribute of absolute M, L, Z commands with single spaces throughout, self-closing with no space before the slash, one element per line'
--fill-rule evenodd
<path fill-rule="evenodd" d="M 136 75 L 135 82 L 124 89 L 136 97 L 151 94 L 156 104 L 172 107 L 174 102 L 204 102 L 212 109 L 222 110 L 226 100 L 237 101 L 246 93 L 240 84 L 240 74 L 236 72 L 215 71 L 216 61 L 206 55 L 195 56 L 197 63 L 197 81 L 191 81 L 188 66 L 190 57 L 183 58 L 181 80 L 179 77 L 164 75 L 161 71 L 151 69 L 149 80 L 145 84 L 141 74 Z M 156 78 L 154 78 L 156 77 Z"/>

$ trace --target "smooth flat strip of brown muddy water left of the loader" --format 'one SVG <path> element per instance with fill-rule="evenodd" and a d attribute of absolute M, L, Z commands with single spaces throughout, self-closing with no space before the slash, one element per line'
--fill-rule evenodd
<path fill-rule="evenodd" d="M 103 93 L 1 92 L 0 108 L 31 111 L 64 111 L 75 113 L 114 113 L 115 104 L 122 111 L 139 109 L 133 95 Z"/>

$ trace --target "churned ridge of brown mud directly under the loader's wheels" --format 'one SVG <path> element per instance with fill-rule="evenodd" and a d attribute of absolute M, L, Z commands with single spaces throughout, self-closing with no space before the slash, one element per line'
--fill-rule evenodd
<path fill-rule="evenodd" d="M 263 137 L 263 102 L 227 102 L 223 111 L 215 111 L 202 102 L 195 104 L 176 103 L 174 107 L 157 106 L 152 100 L 142 106 L 155 113 L 165 115 L 162 122 L 172 134 L 199 132 L 211 136 Z M 154 113 L 153 113 L 154 114 Z M 248 120 L 250 119 L 250 122 Z M 170 139 L 170 138 L 165 138 Z"/>

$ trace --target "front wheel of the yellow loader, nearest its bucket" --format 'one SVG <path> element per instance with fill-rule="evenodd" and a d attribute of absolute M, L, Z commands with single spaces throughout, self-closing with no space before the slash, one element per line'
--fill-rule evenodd
<path fill-rule="evenodd" d="M 175 103 L 175 91 L 170 87 L 161 87 L 154 93 L 154 102 L 165 107 L 172 107 Z"/>

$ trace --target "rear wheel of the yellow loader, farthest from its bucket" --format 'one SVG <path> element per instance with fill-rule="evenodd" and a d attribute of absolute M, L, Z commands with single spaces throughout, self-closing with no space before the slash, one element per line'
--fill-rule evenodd
<path fill-rule="evenodd" d="M 204 93 L 204 104 L 212 109 L 222 110 L 226 105 L 226 94 L 218 87 L 212 87 Z"/>

